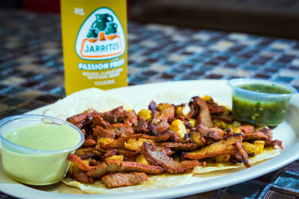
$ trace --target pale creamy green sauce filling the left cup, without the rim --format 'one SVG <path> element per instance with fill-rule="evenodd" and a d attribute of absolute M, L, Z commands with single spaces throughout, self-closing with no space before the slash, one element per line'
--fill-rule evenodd
<path fill-rule="evenodd" d="M 67 125 L 34 124 L 18 128 L 4 136 L 7 140 L 32 149 L 63 150 L 80 142 L 80 134 Z M 65 177 L 73 151 L 60 154 L 26 154 L 1 144 L 2 168 L 12 179 L 32 185 L 56 183 Z"/>

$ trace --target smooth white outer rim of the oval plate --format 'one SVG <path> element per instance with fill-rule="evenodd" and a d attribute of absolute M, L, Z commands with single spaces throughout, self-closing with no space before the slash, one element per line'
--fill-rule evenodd
<path fill-rule="evenodd" d="M 185 81 L 166 81 L 166 82 L 155 82 L 155 83 L 149 83 L 149 84 L 138 84 L 138 85 L 133 85 L 133 86 L 128 86 L 128 87 L 120 87 L 120 88 L 115 88 L 115 89 L 111 89 L 109 90 L 109 92 L 112 92 L 112 93 L 117 93 L 119 92 L 120 90 L 127 90 L 127 89 L 138 89 L 138 88 L 147 88 L 147 87 L 155 87 L 155 86 L 159 86 L 161 84 L 163 84 L 163 86 L 168 86 L 168 85 L 176 85 L 176 84 L 192 84 L 192 83 L 197 83 L 197 84 L 203 84 L 205 82 L 207 83 L 210 83 L 210 82 L 216 82 L 216 83 L 225 83 L 225 87 L 228 87 L 226 85 L 226 81 L 227 80 L 215 80 L 215 79 L 202 79 L 202 80 L 185 80 Z M 213 96 L 212 96 L 213 97 Z M 293 97 L 295 98 L 298 98 L 299 99 L 299 94 L 297 93 L 296 95 L 294 95 Z M 40 110 L 43 110 L 45 108 L 50 108 L 52 104 L 49 104 L 49 105 L 46 105 L 44 107 L 40 107 L 38 109 L 34 109 L 32 111 L 29 111 L 28 113 L 32 113 L 32 112 L 36 112 L 36 111 L 40 111 Z M 295 104 L 296 107 L 298 106 L 299 108 L 299 103 L 298 104 Z M 297 129 L 297 131 L 299 131 L 299 129 Z M 296 133 L 296 132 L 295 132 Z M 298 140 L 298 137 L 297 137 L 297 140 Z M 280 153 L 279 155 L 277 155 L 276 157 L 273 157 L 267 161 L 264 161 L 264 162 L 261 162 L 259 163 L 259 167 L 261 168 L 265 168 L 265 169 L 259 169 L 258 172 L 254 171 L 254 172 L 251 172 L 251 170 L 254 169 L 254 166 L 251 167 L 251 168 L 247 168 L 247 169 L 242 169 L 240 171 L 237 171 L 237 172 L 234 172 L 234 173 L 230 173 L 230 174 L 227 174 L 227 175 L 224 175 L 224 176 L 219 176 L 219 177 L 216 177 L 216 178 L 213 178 L 213 179 L 209 179 L 209 180 L 206 180 L 206 181 L 203 181 L 205 183 L 205 185 L 210 185 L 210 184 L 217 184 L 217 186 L 209 186 L 208 188 L 205 188 L 205 190 L 202 190 L 202 189 L 197 189 L 196 191 L 195 188 L 198 186 L 201 185 L 201 183 L 203 182 L 195 182 L 195 183 L 190 183 L 190 184 L 185 184 L 185 185 L 181 185 L 181 186 L 175 186 L 175 187 L 168 187 L 168 188 L 163 188 L 163 189 L 155 189 L 155 190 L 148 190 L 148 191 L 142 191 L 142 192 L 128 192 L 128 193 L 112 193 L 112 194 L 64 194 L 64 193 L 57 193 L 57 192 L 46 192 L 46 191 L 43 191 L 43 190 L 39 190 L 39 189 L 34 189 L 35 191 L 33 192 L 40 192 L 40 193 L 43 193 L 44 195 L 36 195 L 37 197 L 43 197 L 43 198 L 53 198 L 53 197 L 60 197 L 61 198 L 86 198 L 86 196 L 88 195 L 87 198 L 98 198 L 99 196 L 101 196 L 101 198 L 109 198 L 109 199 L 113 199 L 113 198 L 119 198 L 120 196 L 123 197 L 124 194 L 128 195 L 128 198 L 130 199 L 134 199 L 134 198 L 140 198 L 140 196 L 138 197 L 138 194 L 136 193 L 144 193 L 144 198 L 178 198 L 178 197 L 183 197 L 183 196 L 186 196 L 186 195 L 193 195 L 193 194 L 197 194 L 197 193 L 202 193 L 202 192 L 207 192 L 207 191 L 211 191 L 211 190 L 216 190 L 216 189 L 220 189 L 220 188 L 223 188 L 223 187 L 226 187 L 226 186 L 231 186 L 231 185 L 234 185 L 234 184 L 237 184 L 237 183 L 241 183 L 241 182 L 245 182 L 245 181 L 248 181 L 250 179 L 254 179 L 256 177 L 259 177 L 263 174 L 266 174 L 266 173 L 269 173 L 269 172 L 272 172 L 276 169 L 279 169 L 295 160 L 297 160 L 299 158 L 299 154 L 297 155 L 294 155 L 292 154 L 292 151 L 293 150 L 299 150 L 299 142 L 297 142 L 296 144 L 292 145 L 291 147 L 287 148 L 286 150 L 283 150 L 282 153 Z M 0 156 L 1 156 L 1 147 L 0 147 Z M 291 158 L 289 158 L 291 157 Z M 1 161 L 1 160 L 0 160 Z M 269 163 L 273 163 L 274 166 L 271 167 L 271 169 L 269 169 Z M 2 168 L 2 166 L 1 166 Z M 1 169 L 2 170 L 2 169 Z M 266 170 L 266 172 L 265 172 Z M 3 171 L 1 171 L 3 172 Z M 250 175 L 245 178 L 238 178 L 239 175 L 242 175 L 244 173 L 252 173 L 253 175 Z M 5 174 L 4 174 L 5 175 Z M 245 175 L 246 176 L 246 175 Z M 222 178 L 230 178 L 230 179 L 233 179 L 231 180 L 230 182 L 226 182 L 225 184 L 219 184 L 217 183 L 219 180 L 221 180 Z M 0 175 L 0 180 L 1 180 L 1 175 Z M 1 184 L 1 181 L 0 181 L 0 184 Z M 17 183 L 17 186 L 18 185 L 22 185 L 20 183 Z M 25 186 L 25 185 L 22 185 L 22 186 Z M 27 187 L 27 186 L 26 186 Z M 28 187 L 30 188 L 30 187 Z M 33 188 L 31 188 L 33 189 Z M 178 189 L 183 189 L 184 192 L 177 192 L 176 190 Z M 0 186 L 0 190 L 4 193 L 7 193 L 5 190 L 3 190 Z M 163 191 L 162 191 L 163 190 Z M 168 195 L 165 195 L 165 194 L 162 194 L 161 195 L 161 192 L 169 192 L 171 194 L 168 194 Z M 40 194 L 39 193 L 39 194 Z M 148 193 L 148 194 L 147 194 Z M 14 197 L 24 197 L 25 198 L 27 197 L 27 195 L 20 195 L 20 194 L 17 194 L 16 192 L 9 192 L 7 193 L 8 195 L 12 195 Z M 32 198 L 32 195 L 28 195 L 27 198 L 30 198 L 30 199 L 33 199 Z M 123 197 L 125 198 L 125 197 Z"/>

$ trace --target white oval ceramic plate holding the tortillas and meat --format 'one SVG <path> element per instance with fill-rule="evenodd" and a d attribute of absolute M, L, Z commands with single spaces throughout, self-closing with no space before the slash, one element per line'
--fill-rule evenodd
<path fill-rule="evenodd" d="M 154 84 L 144 84 L 109 90 L 111 93 L 123 96 L 132 105 L 141 100 L 150 100 L 152 96 L 172 90 L 194 90 L 199 96 L 210 95 L 214 101 L 231 106 L 231 90 L 226 80 L 195 80 L 171 81 Z M 182 98 L 182 96 L 180 96 Z M 187 100 L 190 100 L 188 98 Z M 187 102 L 187 101 L 186 101 Z M 51 105 L 42 107 L 30 114 L 42 114 Z M 143 192 L 84 194 L 79 189 L 56 183 L 48 186 L 26 186 L 8 178 L 0 168 L 0 190 L 18 198 L 28 199 L 65 199 L 65 198 L 101 198 L 101 199 L 139 199 L 139 198 L 178 198 L 186 195 L 207 192 L 233 184 L 248 181 L 266 173 L 272 172 L 299 158 L 299 94 L 292 97 L 285 121 L 273 129 L 274 139 L 283 141 L 281 154 L 267 161 L 252 165 L 248 169 L 228 169 L 203 174 L 196 174 L 184 185 L 156 189 Z M 1 154 L 0 154 L 1 156 Z M 22 163 L 20 163 L 22 166 Z"/>

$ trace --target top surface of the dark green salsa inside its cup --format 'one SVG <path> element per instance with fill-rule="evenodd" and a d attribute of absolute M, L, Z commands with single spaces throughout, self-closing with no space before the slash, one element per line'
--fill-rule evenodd
<path fill-rule="evenodd" d="M 266 84 L 242 84 L 237 86 L 239 88 L 255 91 L 255 92 L 264 92 L 264 93 L 272 93 L 272 94 L 288 94 L 292 93 L 291 90 L 276 86 L 274 84 L 272 85 L 266 85 Z"/>

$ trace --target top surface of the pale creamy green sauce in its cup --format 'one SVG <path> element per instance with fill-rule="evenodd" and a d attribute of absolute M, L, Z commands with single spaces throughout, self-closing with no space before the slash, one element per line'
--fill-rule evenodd
<path fill-rule="evenodd" d="M 18 128 L 4 136 L 20 146 L 39 150 L 68 149 L 80 142 L 80 134 L 67 125 L 34 124 Z"/>

